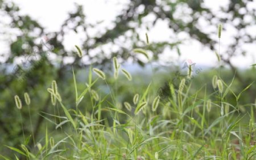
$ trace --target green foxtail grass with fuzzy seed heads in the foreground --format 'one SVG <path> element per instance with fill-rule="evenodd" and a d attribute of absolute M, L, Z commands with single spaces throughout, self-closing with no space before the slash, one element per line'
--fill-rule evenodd
<path fill-rule="evenodd" d="M 147 55 L 146 51 L 139 51 Z M 189 75 L 184 79 L 179 77 L 179 88 L 170 83 L 170 94 L 163 97 L 156 93 L 156 84 L 152 83 L 158 77 L 153 75 L 151 83 L 143 90 L 143 87 L 135 88 L 133 83 L 136 82 L 131 79 L 130 73 L 124 70 L 123 75 L 118 75 L 121 64 L 116 58 L 113 62 L 113 76 L 90 68 L 83 90 L 78 87 L 73 71 L 75 93 L 71 96 L 75 97 L 75 102 L 69 107 L 53 81 L 53 87 L 47 90 L 52 97 L 54 113 L 41 113 L 47 125 L 40 139 L 34 140 L 31 133 L 36 145 L 28 145 L 30 136 L 26 135 L 20 146 L 6 146 L 13 150 L 13 155 L 7 157 L 0 154 L 0 157 L 256 159 L 255 104 L 240 103 L 242 93 L 251 84 L 235 94 L 233 80 L 226 84 L 218 72 L 218 80 L 214 80 L 217 84 L 209 94 L 207 85 L 203 83 L 199 89 L 193 90 Z M 93 71 L 98 77 L 93 75 Z M 97 85 L 98 82 L 105 83 L 105 88 Z M 131 96 L 119 94 L 117 86 L 123 83 L 129 83 L 131 87 L 124 88 L 122 93 Z M 229 95 L 236 97 L 235 105 L 227 98 Z M 86 101 L 86 105 L 81 105 L 82 101 Z M 243 113 L 245 106 L 247 110 Z"/>

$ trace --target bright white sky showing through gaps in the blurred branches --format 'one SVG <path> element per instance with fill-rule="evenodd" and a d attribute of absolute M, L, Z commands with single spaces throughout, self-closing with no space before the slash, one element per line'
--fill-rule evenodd
<path fill-rule="evenodd" d="M 30 15 L 32 18 L 38 20 L 40 24 L 42 24 L 48 31 L 51 32 L 58 31 L 60 29 L 60 25 L 63 24 L 63 21 L 68 16 L 67 13 L 74 10 L 74 3 L 78 3 L 79 5 L 84 6 L 86 19 L 90 23 L 96 23 L 96 21 L 103 20 L 104 22 L 101 24 L 101 27 L 109 26 L 111 21 L 114 20 L 115 15 L 117 15 L 122 10 L 123 4 L 127 3 L 126 0 L 122 0 L 122 3 L 118 0 L 14 0 L 14 2 L 19 5 L 22 14 Z M 210 6 L 214 12 L 218 12 L 220 6 L 227 6 L 227 4 L 228 0 L 205 0 L 205 5 Z M 256 8 L 256 2 L 253 2 L 251 6 Z M 99 11 L 101 11 L 101 14 L 99 14 Z M 150 21 L 150 18 L 148 18 L 148 21 Z M 201 24 L 204 25 L 203 22 Z M 231 41 L 229 37 L 233 34 L 232 28 L 228 29 L 228 25 L 226 25 L 226 27 L 226 31 L 222 32 L 222 37 L 224 38 L 221 40 L 221 42 L 223 42 L 223 44 Z M 253 31 L 255 33 L 256 28 L 254 28 Z M 146 33 L 146 29 L 142 29 L 141 31 L 138 31 L 138 33 L 141 37 L 143 37 Z M 168 25 L 165 21 L 159 21 L 156 23 L 155 28 L 148 32 L 150 40 L 154 41 L 169 40 L 170 37 L 173 37 L 172 35 L 174 34 L 175 33 L 172 33 L 168 28 Z M 185 33 L 181 33 L 176 36 L 187 37 Z M 67 40 L 64 41 L 64 45 L 68 50 L 72 50 L 74 45 L 81 44 L 81 40 L 83 40 L 83 38 L 75 32 L 68 33 L 67 37 Z M 4 44 L 0 46 L 3 47 Z M 221 50 L 224 50 L 222 47 L 225 46 L 221 46 Z M 232 62 L 235 66 L 247 68 L 250 64 L 255 63 L 255 45 L 249 45 L 247 46 L 247 49 L 249 50 L 249 55 L 247 57 L 237 57 L 232 59 Z M 217 64 L 217 59 L 214 53 L 207 49 L 207 47 L 201 46 L 200 42 L 189 40 L 180 47 L 180 50 L 182 53 L 181 59 L 183 60 L 191 59 L 197 64 L 208 66 Z M 166 50 L 163 54 L 164 56 L 162 57 L 162 60 L 177 58 L 176 50 Z M 221 54 L 225 53 L 221 52 Z"/>

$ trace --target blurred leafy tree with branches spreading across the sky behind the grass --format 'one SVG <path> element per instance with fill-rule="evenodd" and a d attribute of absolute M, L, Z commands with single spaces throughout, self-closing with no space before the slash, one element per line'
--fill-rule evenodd
<path fill-rule="evenodd" d="M 20 15 L 19 7 L 14 3 L 0 0 L 1 15 L 10 20 L 10 23 L 1 21 L 2 25 L 7 27 L 8 32 L 0 32 L 1 36 L 8 37 L 10 42 L 10 53 L 1 55 L 6 60 L 1 65 L 0 75 L 0 142 L 16 145 L 19 144 L 18 138 L 21 137 L 18 135 L 22 135 L 22 131 L 17 127 L 20 121 L 13 120 L 18 117 L 18 113 L 13 111 L 14 95 L 22 95 L 24 90 L 30 90 L 34 97 L 39 97 L 34 99 L 38 106 L 32 109 L 33 113 L 47 112 L 50 97 L 44 91 L 46 86 L 49 86 L 49 81 L 53 79 L 60 82 L 59 85 L 70 85 L 67 78 L 71 76 L 72 66 L 82 68 L 93 63 L 110 68 L 109 62 L 111 60 L 109 59 L 114 56 L 123 60 L 133 59 L 134 62 L 143 66 L 142 60 L 137 59 L 132 53 L 135 47 L 151 50 L 154 54 L 154 60 L 158 60 L 160 53 L 166 48 L 176 50 L 177 54 L 180 54 L 179 45 L 183 43 L 182 39 L 162 42 L 151 41 L 151 45 L 146 46 L 146 43 L 138 36 L 137 28 L 146 26 L 150 30 L 159 20 L 168 21 L 170 30 L 175 34 L 186 32 L 191 38 L 201 42 L 204 46 L 208 46 L 213 51 L 217 50 L 218 47 L 216 32 L 219 23 L 224 25 L 224 29 L 226 25 L 236 29 L 237 34 L 233 37 L 232 43 L 226 47 L 226 54 L 221 55 L 222 62 L 228 64 L 236 72 L 230 59 L 236 55 L 246 55 L 245 47 L 242 45 L 255 42 L 255 36 L 247 32 L 247 28 L 255 27 L 256 20 L 256 12 L 254 8 L 250 7 L 251 3 L 253 3 L 252 0 L 230 0 L 229 5 L 222 7 L 221 12 L 216 15 L 210 8 L 205 7 L 203 0 L 131 0 L 129 5 L 117 15 L 113 28 L 105 28 L 105 32 L 92 35 L 90 29 L 101 22 L 94 25 L 87 23 L 83 7 L 80 5 L 76 5 L 75 12 L 68 14 L 68 18 L 61 25 L 60 31 L 52 33 L 47 32 L 38 21 L 30 16 Z M 152 23 L 143 24 L 143 19 L 150 15 L 154 18 Z M 200 20 L 203 20 L 209 28 L 213 27 L 216 30 L 205 31 L 199 23 Z M 77 57 L 75 49 L 70 52 L 63 45 L 65 35 L 69 31 L 84 34 L 85 41 L 82 42 L 81 46 L 85 53 L 83 61 Z M 118 49 L 110 49 L 111 55 L 109 56 L 104 50 L 106 45 L 115 46 Z M 48 54 L 51 54 L 55 59 L 52 60 L 51 57 L 47 56 Z M 19 58 L 23 58 L 22 64 L 16 63 Z M 71 58 L 72 62 L 65 63 L 66 58 Z M 10 72 L 9 68 L 14 69 Z M 237 77 L 241 82 L 243 81 L 239 74 Z M 65 91 L 64 93 L 68 95 L 70 92 Z M 28 113 L 24 111 L 23 114 L 26 116 Z M 34 114 L 33 119 L 35 119 L 35 137 L 38 138 L 44 118 Z M 25 132 L 30 133 L 28 128 L 25 128 Z"/>

